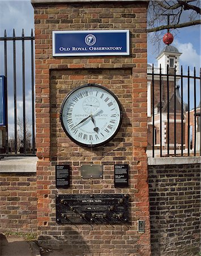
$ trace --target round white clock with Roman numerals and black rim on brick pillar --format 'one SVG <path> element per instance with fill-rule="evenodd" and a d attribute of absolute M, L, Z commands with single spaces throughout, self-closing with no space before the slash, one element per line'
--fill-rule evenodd
<path fill-rule="evenodd" d="M 122 122 L 121 104 L 104 86 L 85 84 L 63 100 L 60 120 L 71 141 L 83 147 L 99 147 L 117 134 Z"/>

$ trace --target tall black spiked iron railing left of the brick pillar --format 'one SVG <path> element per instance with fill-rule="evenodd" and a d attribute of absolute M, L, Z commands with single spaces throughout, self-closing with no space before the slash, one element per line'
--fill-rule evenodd
<path fill-rule="evenodd" d="M 15 36 L 15 30 L 12 36 L 7 36 L 5 30 L 4 36 L 0 37 L 0 49 L 4 52 L 0 75 L 5 76 L 6 80 L 6 125 L 2 129 L 5 143 L 0 156 L 36 155 L 34 40 L 33 31 L 31 36 L 24 36 L 24 30 L 22 36 Z M 9 120 L 12 116 L 11 106 L 14 106 L 13 122 Z M 31 120 L 28 121 L 28 117 Z"/>

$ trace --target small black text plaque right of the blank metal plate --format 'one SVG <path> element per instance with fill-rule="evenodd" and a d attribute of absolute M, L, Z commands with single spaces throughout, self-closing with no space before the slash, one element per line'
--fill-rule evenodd
<path fill-rule="evenodd" d="M 129 164 L 114 165 L 114 187 L 129 187 Z"/>

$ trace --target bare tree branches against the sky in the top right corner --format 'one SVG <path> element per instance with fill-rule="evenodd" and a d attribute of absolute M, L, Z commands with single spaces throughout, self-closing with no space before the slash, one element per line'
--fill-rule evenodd
<path fill-rule="evenodd" d="M 165 29 L 173 28 L 176 34 L 178 28 L 199 25 L 200 4 L 199 0 L 151 0 L 147 15 L 147 32 L 154 32 L 149 35 L 151 42 L 159 43 Z"/>

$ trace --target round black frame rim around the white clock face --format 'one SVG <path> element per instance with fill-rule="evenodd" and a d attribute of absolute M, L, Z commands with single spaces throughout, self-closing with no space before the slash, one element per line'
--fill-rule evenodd
<path fill-rule="evenodd" d="M 76 141 L 76 139 L 72 138 L 71 135 L 67 132 L 66 127 L 63 123 L 62 113 L 63 113 L 63 107 L 65 106 L 66 101 L 68 100 L 68 98 L 71 96 L 72 93 L 76 92 L 76 90 L 79 90 L 79 89 L 82 89 L 82 88 L 85 88 L 85 87 L 92 87 L 92 86 L 106 90 L 108 93 L 110 93 L 115 98 L 115 100 L 117 101 L 118 107 L 119 107 L 119 111 L 120 111 L 120 119 L 119 119 L 119 124 L 118 124 L 118 127 L 117 127 L 115 133 L 109 139 L 107 139 L 104 142 L 98 143 L 98 144 L 87 144 L 87 143 L 85 144 L 85 143 Z M 107 144 L 109 141 L 111 141 L 117 135 L 117 133 L 118 133 L 120 127 L 121 127 L 121 124 L 122 124 L 122 107 L 121 107 L 121 104 L 120 104 L 117 96 L 113 92 L 111 92 L 108 88 L 105 88 L 104 86 L 99 85 L 99 84 L 84 84 L 84 85 L 79 86 L 79 87 L 75 88 L 74 90 L 72 90 L 66 96 L 66 98 L 63 100 L 62 105 L 61 105 L 59 118 L 60 118 L 63 130 L 65 131 L 67 137 L 69 137 L 71 139 L 71 141 L 75 142 L 76 144 L 78 144 L 79 146 L 82 146 L 82 147 L 101 147 L 101 146 L 104 146 L 105 144 Z"/>

